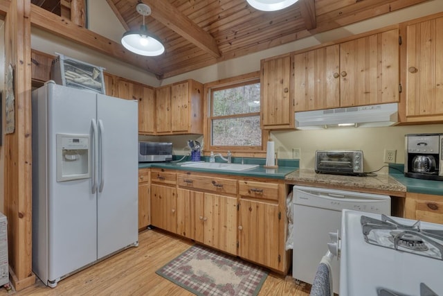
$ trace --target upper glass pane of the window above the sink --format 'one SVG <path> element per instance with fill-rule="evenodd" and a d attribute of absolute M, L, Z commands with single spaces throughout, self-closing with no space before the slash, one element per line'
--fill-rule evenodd
<path fill-rule="evenodd" d="M 213 92 L 213 116 L 260 112 L 260 83 Z"/>

